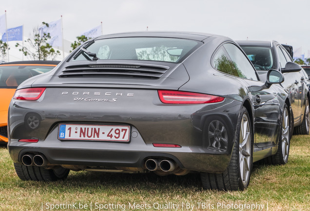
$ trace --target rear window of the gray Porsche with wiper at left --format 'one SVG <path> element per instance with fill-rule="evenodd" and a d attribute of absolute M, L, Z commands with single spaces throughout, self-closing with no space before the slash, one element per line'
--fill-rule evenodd
<path fill-rule="evenodd" d="M 96 53 L 99 60 L 146 60 L 179 63 L 202 42 L 176 38 L 110 38 L 96 40 L 87 51 Z M 92 60 L 80 51 L 73 60 Z"/>

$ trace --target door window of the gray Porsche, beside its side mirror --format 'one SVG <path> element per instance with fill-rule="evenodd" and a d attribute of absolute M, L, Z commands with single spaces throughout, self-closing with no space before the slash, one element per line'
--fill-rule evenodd
<path fill-rule="evenodd" d="M 239 77 L 257 81 L 255 69 L 247 56 L 232 43 L 226 43 L 223 46 L 230 56 Z"/>

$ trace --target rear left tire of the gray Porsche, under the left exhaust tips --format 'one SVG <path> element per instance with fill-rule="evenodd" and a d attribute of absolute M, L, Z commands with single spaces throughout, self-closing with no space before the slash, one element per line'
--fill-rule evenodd
<path fill-rule="evenodd" d="M 45 169 L 37 166 L 25 166 L 14 163 L 15 171 L 21 180 L 32 181 L 57 181 L 66 179 L 70 170 L 58 167 L 55 169 Z"/>

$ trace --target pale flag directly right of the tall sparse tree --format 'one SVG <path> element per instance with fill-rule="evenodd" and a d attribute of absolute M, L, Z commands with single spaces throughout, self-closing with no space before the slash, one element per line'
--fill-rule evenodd
<path fill-rule="evenodd" d="M 39 28 L 41 34 L 50 33 L 51 39 L 47 41 L 52 46 L 62 46 L 61 19 L 53 21 Z"/>

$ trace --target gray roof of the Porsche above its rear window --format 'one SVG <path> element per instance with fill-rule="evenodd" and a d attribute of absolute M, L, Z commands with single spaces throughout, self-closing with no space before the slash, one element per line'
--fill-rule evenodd
<path fill-rule="evenodd" d="M 220 35 L 198 33 L 198 32 L 177 32 L 177 31 L 144 31 L 144 32 L 126 32 L 102 35 L 97 37 L 95 40 L 105 39 L 105 38 L 120 38 L 120 37 L 166 37 L 166 38 L 181 38 L 190 39 L 196 41 L 203 41 L 208 37 L 222 37 Z"/>

